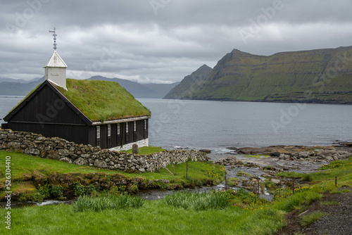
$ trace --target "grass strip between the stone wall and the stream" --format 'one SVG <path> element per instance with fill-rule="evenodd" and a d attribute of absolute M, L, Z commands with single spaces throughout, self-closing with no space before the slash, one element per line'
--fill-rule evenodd
<path fill-rule="evenodd" d="M 156 147 L 157 148 L 157 147 Z M 158 148 L 160 150 L 160 148 Z M 150 151 L 150 149 L 149 149 Z M 161 168 L 158 172 L 144 173 L 127 173 L 120 170 L 103 170 L 96 167 L 80 166 L 63 161 L 39 158 L 32 155 L 16 152 L 0 151 L 0 163 L 5 163 L 6 156 L 11 156 L 11 189 L 14 192 L 32 191 L 36 193 L 34 185 L 31 183 L 33 172 L 48 177 L 52 172 L 64 173 L 96 173 L 104 172 L 107 175 L 122 174 L 125 177 L 142 177 L 145 179 L 167 179 L 170 184 L 178 184 L 182 186 L 200 186 L 206 182 L 218 184 L 225 177 L 225 167 L 214 165 L 211 163 L 188 163 L 188 179 L 186 179 L 186 163 L 175 165 L 175 175 L 171 175 L 167 170 Z M 172 165 L 168 165 L 168 170 L 173 172 Z M 5 172 L 5 165 L 0 165 L 0 173 Z M 5 184 L 5 174 L 0 174 L 0 186 Z M 167 187 L 167 184 L 158 182 L 155 184 L 163 184 L 160 186 Z M 4 191 L 0 191 L 0 198 L 5 196 Z M 37 195 L 39 196 L 39 195 Z M 35 201 L 40 201 L 37 198 Z"/>

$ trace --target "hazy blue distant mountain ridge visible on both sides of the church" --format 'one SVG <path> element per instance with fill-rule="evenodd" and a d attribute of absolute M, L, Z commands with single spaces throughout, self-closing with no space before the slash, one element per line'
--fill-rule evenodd
<path fill-rule="evenodd" d="M 122 80 L 120 78 L 108 78 L 101 76 L 94 76 L 89 78 L 89 80 L 104 80 L 104 81 L 112 81 L 118 82 L 121 87 L 125 88 L 129 91 L 134 98 L 163 98 L 168 91 L 175 87 L 179 82 L 175 82 L 172 84 L 139 84 L 138 82 L 132 82 L 130 80 Z M 1 82 L 2 81 L 2 82 Z M 4 82 L 5 81 L 5 82 Z M 17 81 L 6 78 L 0 78 L 0 95 L 11 95 L 11 96 L 26 96 L 32 89 L 37 87 L 37 85 L 44 82 L 44 77 L 34 80 L 27 81 L 24 83 L 24 80 Z"/>

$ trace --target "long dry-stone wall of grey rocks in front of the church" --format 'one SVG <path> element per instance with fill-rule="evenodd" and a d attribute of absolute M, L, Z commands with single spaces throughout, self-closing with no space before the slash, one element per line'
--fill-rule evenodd
<path fill-rule="evenodd" d="M 208 160 L 206 153 L 196 150 L 137 155 L 109 151 L 89 144 L 75 144 L 58 137 L 46 138 L 41 134 L 15 132 L 11 129 L 0 129 L 1 149 L 37 155 L 41 158 L 63 160 L 77 165 L 90 165 L 125 172 L 155 172 L 171 163 Z"/>

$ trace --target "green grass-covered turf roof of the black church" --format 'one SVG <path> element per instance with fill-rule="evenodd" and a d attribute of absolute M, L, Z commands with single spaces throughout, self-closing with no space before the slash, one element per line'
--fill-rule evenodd
<path fill-rule="evenodd" d="M 117 82 L 67 79 L 66 87 L 67 91 L 56 88 L 92 121 L 151 115 L 148 108 Z"/>

